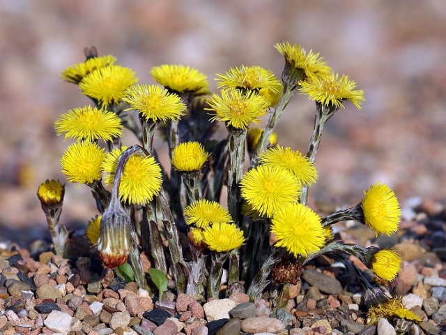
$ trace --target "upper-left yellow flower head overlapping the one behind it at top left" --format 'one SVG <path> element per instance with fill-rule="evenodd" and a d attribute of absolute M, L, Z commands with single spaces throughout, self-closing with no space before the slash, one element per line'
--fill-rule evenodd
<path fill-rule="evenodd" d="M 138 81 L 131 68 L 112 65 L 93 71 L 79 82 L 82 94 L 100 101 L 104 105 L 118 103 L 125 90 Z"/>

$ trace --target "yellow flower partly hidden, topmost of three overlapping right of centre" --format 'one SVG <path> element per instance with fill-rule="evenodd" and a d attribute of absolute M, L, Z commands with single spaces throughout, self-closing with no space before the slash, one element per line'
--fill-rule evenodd
<path fill-rule="evenodd" d="M 295 177 L 298 177 L 304 185 L 310 186 L 318 179 L 314 163 L 307 157 L 302 156 L 299 151 L 293 151 L 291 148 L 277 147 L 268 149 L 259 157 L 262 165 L 276 165 L 289 170 Z"/>

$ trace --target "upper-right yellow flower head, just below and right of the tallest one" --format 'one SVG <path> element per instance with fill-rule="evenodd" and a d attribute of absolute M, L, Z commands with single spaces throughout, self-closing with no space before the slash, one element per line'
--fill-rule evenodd
<path fill-rule="evenodd" d="M 364 91 L 355 87 L 356 83 L 348 79 L 348 76 L 342 75 L 339 78 L 334 73 L 309 82 L 300 82 L 300 91 L 312 101 L 339 108 L 344 107 L 344 101 L 348 100 L 360 110 L 365 101 Z"/>

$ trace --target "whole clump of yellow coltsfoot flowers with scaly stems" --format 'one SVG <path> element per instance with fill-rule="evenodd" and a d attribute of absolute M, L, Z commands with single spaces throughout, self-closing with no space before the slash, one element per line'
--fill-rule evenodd
<path fill-rule="evenodd" d="M 189 276 L 178 270 L 187 271 L 187 266 L 178 264 L 187 261 L 192 263 L 189 269 L 194 276 L 203 276 L 197 279 L 191 275 L 187 292 L 197 292 L 197 286 L 208 282 L 208 295 L 218 295 L 222 269 L 227 267 L 224 262 L 229 257 L 229 284 L 247 280 L 247 285 L 256 286 L 254 291 L 259 292 L 270 282 L 270 270 L 282 256 L 305 264 L 306 258 L 330 253 L 332 246 L 341 245 L 339 241 L 333 244 L 333 223 L 355 219 L 377 235 L 397 231 L 401 214 L 398 200 L 379 182 L 350 209 L 321 217 L 307 206 L 308 189 L 318 179 L 314 161 L 323 126 L 345 101 L 360 109 L 364 92 L 355 89 L 348 76 L 335 74 L 319 54 L 288 42 L 275 47 L 285 60 L 282 81 L 260 66 L 239 66 L 216 75 L 220 94 L 210 94 L 206 75 L 182 65 L 155 66 L 150 74 L 157 84 L 137 84 L 132 69 L 116 65 L 111 55 L 98 57 L 95 50 L 87 50 L 86 61 L 63 71 L 63 80 L 77 84 L 93 101 L 93 106 L 61 115 L 55 130 L 57 135 L 76 140 L 63 154 L 61 168 L 70 183 L 86 184 L 93 190 L 101 215 L 90 222 L 86 237 L 98 246 L 106 267 L 123 264 L 128 253 L 141 248 L 133 239 L 136 229 L 143 241 L 155 243 L 158 236 L 167 238 L 178 290 L 185 288 L 183 281 Z M 316 102 L 307 154 L 277 145 L 273 132 L 297 91 Z M 250 127 L 264 116 L 263 128 Z M 228 132 L 224 140 L 213 138 L 217 121 Z M 124 128 L 137 135 L 139 145 L 121 143 Z M 153 149 L 157 129 L 169 145 L 170 170 L 160 165 Z M 227 209 L 220 204 L 225 184 Z M 108 185 L 113 186 L 112 191 Z M 51 226 L 59 225 L 59 217 L 48 209 L 63 201 L 63 185 L 47 181 L 40 186 L 38 196 L 45 215 L 52 218 L 48 221 L 51 230 Z M 168 199 L 167 204 L 164 199 Z M 116 228 L 123 223 L 116 222 L 120 216 L 112 215 L 114 207 L 124 209 L 119 215 L 125 216 L 125 229 Z M 141 207 L 143 220 L 135 214 Z M 157 211 L 161 211 L 161 220 Z M 111 237 L 110 232 L 117 236 Z M 144 236 L 147 232 L 150 236 Z M 183 260 L 178 232 L 189 237 L 193 260 Z M 148 253 L 167 274 L 169 260 L 159 243 Z M 114 245 L 125 245 L 126 250 L 117 251 Z M 344 253 L 351 250 L 337 248 Z M 362 260 L 378 278 L 392 281 L 397 276 L 401 258 L 395 251 L 364 250 Z M 205 259 L 209 254 L 212 265 Z M 250 271 L 255 274 L 267 260 L 271 268 L 263 268 L 265 276 L 249 277 L 248 267 L 253 266 Z M 132 262 L 132 266 L 138 264 Z M 210 271 L 202 267 L 210 267 Z M 204 278 L 206 274 L 209 278 Z"/>

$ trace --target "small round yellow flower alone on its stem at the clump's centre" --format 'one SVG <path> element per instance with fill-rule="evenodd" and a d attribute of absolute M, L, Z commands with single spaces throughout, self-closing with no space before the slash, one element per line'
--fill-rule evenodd
<path fill-rule="evenodd" d="M 172 151 L 171 163 L 175 170 L 192 172 L 203 168 L 209 154 L 199 142 L 183 142 Z"/>

